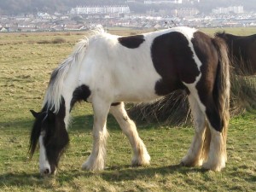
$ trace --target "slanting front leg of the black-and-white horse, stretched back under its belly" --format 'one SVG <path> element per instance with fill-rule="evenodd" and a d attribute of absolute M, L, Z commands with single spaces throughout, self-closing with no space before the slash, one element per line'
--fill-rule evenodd
<path fill-rule="evenodd" d="M 121 102 L 119 105 L 111 106 L 110 113 L 118 121 L 122 131 L 125 136 L 128 137 L 131 147 L 133 149 L 133 166 L 144 166 L 149 164 L 150 156 L 148 154 L 147 148 L 145 147 L 143 140 L 139 137 L 136 125 L 128 117 L 125 111 L 125 105 Z"/>

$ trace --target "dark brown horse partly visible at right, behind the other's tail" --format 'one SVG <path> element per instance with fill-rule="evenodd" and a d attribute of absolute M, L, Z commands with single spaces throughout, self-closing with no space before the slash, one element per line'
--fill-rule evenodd
<path fill-rule="evenodd" d="M 233 65 L 236 74 L 256 74 L 256 34 L 236 36 L 225 32 L 217 32 L 215 37 L 223 38 L 228 45 L 231 65 Z"/>

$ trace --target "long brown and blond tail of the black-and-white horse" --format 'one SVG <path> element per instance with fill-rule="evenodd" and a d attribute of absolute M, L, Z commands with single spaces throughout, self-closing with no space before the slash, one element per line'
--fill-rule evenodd
<path fill-rule="evenodd" d="M 213 98 L 218 108 L 218 113 L 222 119 L 223 129 L 223 148 L 225 159 L 226 155 L 226 140 L 227 131 L 230 120 L 230 59 L 228 55 L 228 49 L 224 40 L 218 37 L 212 39 L 212 43 L 218 51 L 218 72 L 215 79 L 215 87 L 213 90 Z M 207 130 L 205 133 L 205 139 L 202 149 L 202 159 L 206 160 L 211 142 L 211 132 L 207 125 Z"/>

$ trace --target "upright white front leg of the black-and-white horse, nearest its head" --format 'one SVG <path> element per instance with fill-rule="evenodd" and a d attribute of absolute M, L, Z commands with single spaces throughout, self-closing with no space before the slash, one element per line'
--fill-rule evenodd
<path fill-rule="evenodd" d="M 110 103 L 95 99 L 93 104 L 94 124 L 93 124 L 93 147 L 91 154 L 82 166 L 84 170 L 101 171 L 105 167 L 106 144 L 108 131 L 106 122 Z"/>

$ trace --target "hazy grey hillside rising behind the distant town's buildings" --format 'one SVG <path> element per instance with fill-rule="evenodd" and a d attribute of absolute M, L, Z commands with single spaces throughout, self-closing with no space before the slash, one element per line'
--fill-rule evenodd
<path fill-rule="evenodd" d="M 128 5 L 132 12 L 139 13 L 150 7 L 169 9 L 170 6 L 173 7 L 173 3 L 179 4 L 179 7 L 195 7 L 201 12 L 230 5 L 243 5 L 249 11 L 256 10 L 255 0 L 0 0 L 0 15 L 36 14 L 38 12 L 66 13 L 71 8 L 88 5 Z"/>

